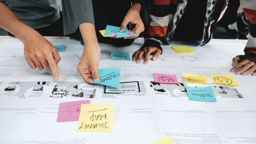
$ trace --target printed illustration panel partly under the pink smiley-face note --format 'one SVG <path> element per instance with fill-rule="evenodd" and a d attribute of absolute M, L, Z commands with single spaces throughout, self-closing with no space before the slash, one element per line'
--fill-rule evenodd
<path fill-rule="evenodd" d="M 161 84 L 150 81 L 149 85 L 154 97 L 188 97 L 186 87 L 183 83 Z"/>

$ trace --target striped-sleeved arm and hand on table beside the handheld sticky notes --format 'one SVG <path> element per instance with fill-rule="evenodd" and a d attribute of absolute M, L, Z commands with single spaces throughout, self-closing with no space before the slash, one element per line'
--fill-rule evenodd
<path fill-rule="evenodd" d="M 150 54 L 154 54 L 153 60 L 156 60 L 162 53 L 161 44 L 163 42 L 164 36 L 166 35 L 169 21 L 173 17 L 173 12 L 175 12 L 171 12 L 171 9 L 174 9 L 176 5 L 177 1 L 152 1 L 150 10 L 150 23 L 146 34 L 144 35 L 145 43 L 138 51 L 132 55 L 132 61 L 137 59 L 136 63 L 140 63 L 143 55 L 145 55 L 145 61 L 143 63 L 146 65 Z"/>

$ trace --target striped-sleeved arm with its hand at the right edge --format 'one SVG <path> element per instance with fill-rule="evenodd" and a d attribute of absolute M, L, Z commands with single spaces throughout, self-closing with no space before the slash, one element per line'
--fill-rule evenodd
<path fill-rule="evenodd" d="M 249 40 L 244 55 L 233 58 L 231 73 L 248 75 L 256 70 L 256 3 L 253 0 L 241 1 L 245 17 L 249 23 Z M 256 72 L 252 74 L 256 76 Z"/>

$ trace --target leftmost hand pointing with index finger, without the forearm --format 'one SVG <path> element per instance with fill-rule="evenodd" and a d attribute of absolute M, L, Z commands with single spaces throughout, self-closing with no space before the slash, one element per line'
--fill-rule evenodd
<path fill-rule="evenodd" d="M 38 70 L 52 70 L 54 80 L 59 79 L 57 64 L 60 55 L 55 47 L 35 30 L 28 31 L 23 42 L 24 57 L 30 68 Z"/>

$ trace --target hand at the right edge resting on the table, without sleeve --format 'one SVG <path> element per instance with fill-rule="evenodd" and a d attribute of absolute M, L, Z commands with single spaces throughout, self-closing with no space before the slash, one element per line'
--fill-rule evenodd
<path fill-rule="evenodd" d="M 230 72 L 234 73 L 236 71 L 236 73 L 235 73 L 236 75 L 239 75 L 239 74 L 248 75 L 256 70 L 256 63 L 254 63 L 253 61 L 248 60 L 248 59 L 243 59 L 241 61 L 241 59 L 239 57 L 233 58 L 232 66 L 233 67 L 235 66 L 235 67 L 232 68 L 230 70 Z M 241 69 L 239 69 L 239 68 L 241 68 Z M 252 74 L 252 76 L 255 76 L 255 75 L 256 75 L 256 72 L 254 72 Z"/>

